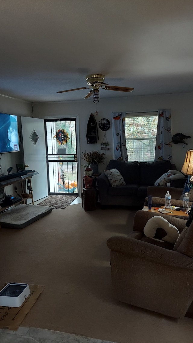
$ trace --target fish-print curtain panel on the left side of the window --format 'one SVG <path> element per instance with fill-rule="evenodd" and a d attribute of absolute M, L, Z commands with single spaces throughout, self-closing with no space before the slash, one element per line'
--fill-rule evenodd
<path fill-rule="evenodd" d="M 114 159 L 128 161 L 125 140 L 125 112 L 112 113 Z"/>

